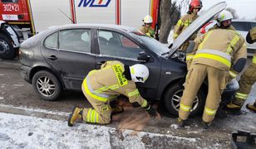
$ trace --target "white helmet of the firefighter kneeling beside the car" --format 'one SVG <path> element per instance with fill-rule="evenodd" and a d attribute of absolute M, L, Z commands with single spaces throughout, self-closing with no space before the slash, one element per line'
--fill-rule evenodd
<path fill-rule="evenodd" d="M 144 83 L 148 79 L 149 74 L 150 71 L 145 65 L 136 64 L 130 66 L 130 76 L 135 82 Z"/>

